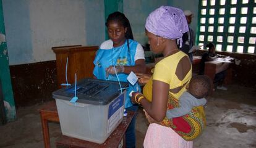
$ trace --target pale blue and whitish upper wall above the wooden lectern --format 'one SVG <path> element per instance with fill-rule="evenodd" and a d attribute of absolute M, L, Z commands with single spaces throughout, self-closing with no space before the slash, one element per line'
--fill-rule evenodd
<path fill-rule="evenodd" d="M 99 45 L 104 1 L 2 0 L 9 64 L 55 60 L 53 46 Z"/>

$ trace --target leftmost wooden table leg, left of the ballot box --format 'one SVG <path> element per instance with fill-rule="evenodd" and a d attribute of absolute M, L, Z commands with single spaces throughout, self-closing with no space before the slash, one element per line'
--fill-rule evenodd
<path fill-rule="evenodd" d="M 44 113 L 41 113 L 41 124 L 42 124 L 42 130 L 43 130 L 43 142 L 45 143 L 45 148 L 49 148 L 50 142 L 49 142 L 49 128 L 48 128 L 48 120 L 46 120 Z"/>

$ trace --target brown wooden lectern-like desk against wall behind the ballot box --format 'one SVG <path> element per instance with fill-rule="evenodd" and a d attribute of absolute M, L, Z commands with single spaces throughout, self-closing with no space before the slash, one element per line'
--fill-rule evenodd
<path fill-rule="evenodd" d="M 75 73 L 77 73 L 77 81 L 82 78 L 93 76 L 93 60 L 98 46 L 61 46 L 52 47 L 56 54 L 56 68 L 58 77 L 58 87 L 60 84 L 66 83 L 66 62 L 67 57 L 67 81 L 75 83 Z"/>

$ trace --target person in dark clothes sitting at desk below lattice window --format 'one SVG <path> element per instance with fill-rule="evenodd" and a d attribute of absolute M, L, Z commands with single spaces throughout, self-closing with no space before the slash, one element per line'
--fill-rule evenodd
<path fill-rule="evenodd" d="M 208 48 L 208 52 L 205 52 L 202 55 L 198 75 L 204 75 L 205 62 L 215 60 L 219 57 L 225 57 L 225 55 L 215 54 L 215 45 L 213 43 L 207 44 L 206 47 Z M 223 86 L 223 81 L 226 77 L 226 69 L 228 68 L 228 66 L 229 63 L 223 63 L 223 65 L 221 65 L 220 70 L 218 70 L 218 73 L 216 73 L 215 78 L 213 80 L 214 88 L 227 90 L 227 88 Z"/>

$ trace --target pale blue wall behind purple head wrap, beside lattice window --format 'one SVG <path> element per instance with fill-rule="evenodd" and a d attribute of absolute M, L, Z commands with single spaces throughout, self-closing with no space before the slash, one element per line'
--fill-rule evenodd
<path fill-rule="evenodd" d="M 194 18 L 190 27 L 196 33 L 197 31 L 197 14 L 198 14 L 198 0 L 129 0 L 124 1 L 124 14 L 130 20 L 132 31 L 135 40 L 144 45 L 147 43 L 145 36 L 145 22 L 148 14 L 160 6 L 173 6 L 182 10 L 189 9 L 194 13 Z"/>

